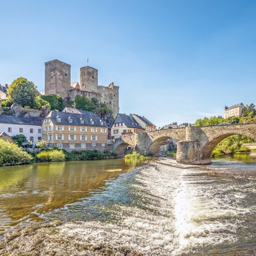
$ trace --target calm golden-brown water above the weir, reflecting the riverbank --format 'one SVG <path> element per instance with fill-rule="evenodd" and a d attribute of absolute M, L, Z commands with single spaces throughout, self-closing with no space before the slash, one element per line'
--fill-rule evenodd
<path fill-rule="evenodd" d="M 54 162 L 0 168 L 0 230 L 100 191 L 105 182 L 140 162 L 124 159 Z"/>

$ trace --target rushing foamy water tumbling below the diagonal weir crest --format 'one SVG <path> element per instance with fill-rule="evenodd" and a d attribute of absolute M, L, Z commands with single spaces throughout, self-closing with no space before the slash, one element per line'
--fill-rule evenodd
<path fill-rule="evenodd" d="M 124 247 L 148 256 L 256 255 L 255 181 L 255 165 L 159 159 L 41 216 L 69 220 L 48 234 L 41 255 L 102 255 L 78 244 L 101 244 L 115 255 L 125 255 Z"/>

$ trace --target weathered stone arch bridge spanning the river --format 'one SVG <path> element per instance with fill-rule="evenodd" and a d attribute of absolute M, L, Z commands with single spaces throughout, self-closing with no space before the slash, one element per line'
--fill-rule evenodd
<path fill-rule="evenodd" d="M 127 148 L 141 154 L 151 152 L 158 155 L 159 147 L 168 138 L 177 140 L 176 161 L 182 164 L 208 165 L 211 151 L 217 144 L 231 135 L 246 135 L 256 140 L 256 124 L 231 124 L 211 127 L 185 127 L 161 129 L 128 135 L 115 140 L 111 151 L 123 155 Z"/>

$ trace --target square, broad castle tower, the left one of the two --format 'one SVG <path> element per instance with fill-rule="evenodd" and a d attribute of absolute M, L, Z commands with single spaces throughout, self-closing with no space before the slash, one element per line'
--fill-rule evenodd
<path fill-rule="evenodd" d="M 45 62 L 45 94 L 59 94 L 68 97 L 70 86 L 70 65 L 55 59 Z"/>

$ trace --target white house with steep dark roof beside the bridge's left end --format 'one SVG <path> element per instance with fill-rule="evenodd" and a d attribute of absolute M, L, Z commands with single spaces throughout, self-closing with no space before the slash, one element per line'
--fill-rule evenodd
<path fill-rule="evenodd" d="M 134 133 L 145 132 L 146 129 L 141 127 L 132 114 L 126 115 L 118 113 L 111 127 L 111 135 L 114 139 L 124 135 L 132 135 Z"/>

